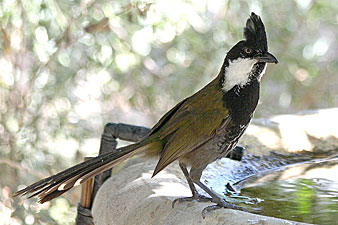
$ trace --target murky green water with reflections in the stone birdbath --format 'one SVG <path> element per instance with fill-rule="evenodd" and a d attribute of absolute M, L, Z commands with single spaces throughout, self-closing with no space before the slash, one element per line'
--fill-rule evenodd
<path fill-rule="evenodd" d="M 264 199 L 251 206 L 258 214 L 314 224 L 338 223 L 337 182 L 325 179 L 272 181 L 244 188 L 241 195 Z"/>

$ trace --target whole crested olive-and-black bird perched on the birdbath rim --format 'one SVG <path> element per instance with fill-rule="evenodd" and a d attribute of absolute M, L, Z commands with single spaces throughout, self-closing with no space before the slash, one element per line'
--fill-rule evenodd
<path fill-rule="evenodd" d="M 254 12 L 246 21 L 244 39 L 226 54 L 218 75 L 205 87 L 169 110 L 141 141 L 77 164 L 23 188 L 14 197 L 30 195 L 50 201 L 95 175 L 135 156 L 158 157 L 152 177 L 178 161 L 191 197 L 173 201 L 210 201 L 205 208 L 240 209 L 201 182 L 203 170 L 227 156 L 250 124 L 259 100 L 260 81 L 268 63 L 278 63 L 268 52 L 261 18 Z M 196 186 L 210 197 L 199 194 Z M 204 211 L 204 210 L 203 210 Z"/>

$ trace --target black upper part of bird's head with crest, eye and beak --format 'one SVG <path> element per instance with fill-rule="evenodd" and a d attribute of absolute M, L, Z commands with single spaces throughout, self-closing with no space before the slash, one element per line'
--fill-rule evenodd
<path fill-rule="evenodd" d="M 235 61 L 248 59 L 253 62 L 278 63 L 275 56 L 268 52 L 268 42 L 264 24 L 259 16 L 251 13 L 244 28 L 245 40 L 238 42 L 228 52 L 226 59 Z"/>

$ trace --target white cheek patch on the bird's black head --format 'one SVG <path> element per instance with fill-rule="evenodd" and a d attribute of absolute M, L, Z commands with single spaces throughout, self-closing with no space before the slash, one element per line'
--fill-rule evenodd
<path fill-rule="evenodd" d="M 239 58 L 229 62 L 224 72 L 223 91 L 227 92 L 235 85 L 244 86 L 249 82 L 250 72 L 257 59 Z"/>

